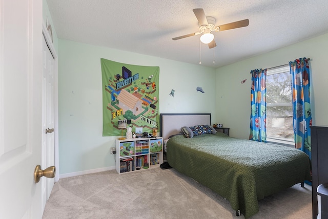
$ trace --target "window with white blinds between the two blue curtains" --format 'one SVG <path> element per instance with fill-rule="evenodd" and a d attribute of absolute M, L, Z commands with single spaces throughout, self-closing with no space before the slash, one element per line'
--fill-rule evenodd
<path fill-rule="evenodd" d="M 289 65 L 267 71 L 267 142 L 294 147 Z"/>

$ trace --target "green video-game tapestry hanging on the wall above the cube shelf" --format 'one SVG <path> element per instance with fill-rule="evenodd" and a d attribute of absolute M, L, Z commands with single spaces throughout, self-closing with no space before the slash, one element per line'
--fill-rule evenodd
<path fill-rule="evenodd" d="M 159 129 L 159 67 L 100 59 L 103 77 L 103 136 L 120 136 L 118 120 L 142 132 Z M 124 134 L 125 135 L 125 134 Z"/>

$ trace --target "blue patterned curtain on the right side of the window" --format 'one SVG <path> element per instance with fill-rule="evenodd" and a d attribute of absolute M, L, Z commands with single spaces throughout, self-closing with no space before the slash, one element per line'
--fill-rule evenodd
<path fill-rule="evenodd" d="M 295 147 L 311 158 L 310 68 L 307 58 L 289 62 L 292 75 Z"/>

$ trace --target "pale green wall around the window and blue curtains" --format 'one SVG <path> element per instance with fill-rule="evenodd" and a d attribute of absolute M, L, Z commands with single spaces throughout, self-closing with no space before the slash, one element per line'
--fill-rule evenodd
<path fill-rule="evenodd" d="M 328 34 L 311 38 L 269 53 L 216 69 L 217 123 L 230 127 L 230 136 L 249 138 L 251 70 L 288 64 L 297 58 L 311 58 L 312 125 L 328 125 Z M 240 82 L 247 79 L 247 82 Z"/>

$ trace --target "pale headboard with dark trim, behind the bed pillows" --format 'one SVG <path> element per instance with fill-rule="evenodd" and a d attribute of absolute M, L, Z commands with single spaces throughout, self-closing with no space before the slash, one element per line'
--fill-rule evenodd
<path fill-rule="evenodd" d="M 211 125 L 210 113 L 160 114 L 160 134 L 163 139 L 179 134 L 182 126 Z"/>

